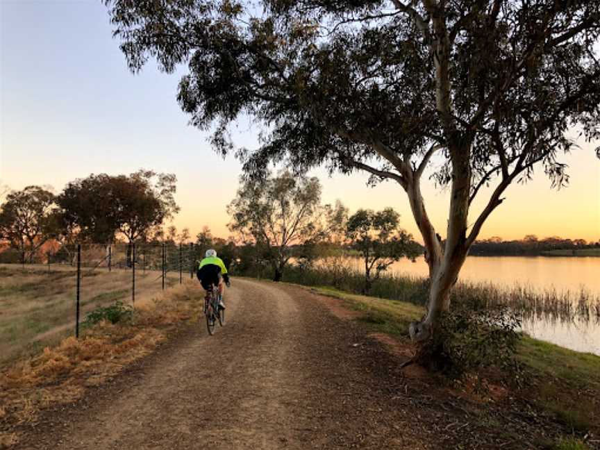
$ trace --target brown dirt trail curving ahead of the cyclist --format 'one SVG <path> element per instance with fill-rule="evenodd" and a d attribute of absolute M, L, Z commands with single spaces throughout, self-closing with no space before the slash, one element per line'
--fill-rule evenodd
<path fill-rule="evenodd" d="M 226 303 L 215 335 L 178 336 L 19 448 L 426 448 L 389 400 L 387 353 L 313 294 L 235 279 Z"/>

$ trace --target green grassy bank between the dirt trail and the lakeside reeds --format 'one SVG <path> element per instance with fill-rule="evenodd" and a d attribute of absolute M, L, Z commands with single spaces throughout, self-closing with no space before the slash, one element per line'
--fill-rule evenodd
<path fill-rule="evenodd" d="M 422 306 L 404 301 L 349 294 L 331 287 L 313 290 L 342 299 L 347 308 L 363 313 L 358 320 L 373 332 L 387 333 L 406 345 L 410 345 L 408 324 L 424 313 Z M 517 360 L 524 366 L 528 381 L 511 395 L 556 421 L 567 436 L 572 435 L 549 448 L 587 449 L 581 438 L 590 431 L 600 435 L 600 356 L 524 336 L 517 347 Z M 573 447 L 576 445 L 581 447 Z"/>

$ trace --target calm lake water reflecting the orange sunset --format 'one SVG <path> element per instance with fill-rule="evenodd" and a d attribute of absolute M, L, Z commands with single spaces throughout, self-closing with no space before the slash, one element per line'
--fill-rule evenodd
<path fill-rule="evenodd" d="M 356 258 L 351 265 L 363 269 Z M 401 260 L 388 272 L 409 276 L 428 276 L 424 258 L 415 263 Z M 556 290 L 578 294 L 582 289 L 600 296 L 600 258 L 563 256 L 469 256 L 460 272 L 459 281 L 492 283 L 498 288 L 527 286 L 533 290 Z M 600 355 L 600 324 L 583 322 L 552 322 L 534 319 L 524 322 L 523 329 L 534 338 L 553 342 L 576 351 Z"/>

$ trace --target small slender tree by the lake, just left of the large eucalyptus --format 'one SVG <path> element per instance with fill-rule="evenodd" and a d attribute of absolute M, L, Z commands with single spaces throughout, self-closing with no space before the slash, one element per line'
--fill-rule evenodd
<path fill-rule="evenodd" d="M 404 257 L 414 263 L 421 253 L 421 246 L 399 223 L 400 215 L 392 208 L 378 212 L 359 209 L 348 219 L 347 238 L 365 260 L 365 293 L 371 289 L 372 280 L 378 279 L 387 267 Z"/>

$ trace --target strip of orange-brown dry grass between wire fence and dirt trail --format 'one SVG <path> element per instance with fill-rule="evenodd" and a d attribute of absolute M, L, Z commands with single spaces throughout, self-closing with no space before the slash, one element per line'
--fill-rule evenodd
<path fill-rule="evenodd" d="M 15 443 L 15 427 L 35 422 L 38 412 L 80 398 L 126 365 L 156 348 L 177 324 L 197 319 L 197 283 L 158 294 L 136 308 L 131 322 L 101 322 L 82 338 L 69 337 L 41 354 L 13 363 L 0 374 L 0 447 Z"/>

